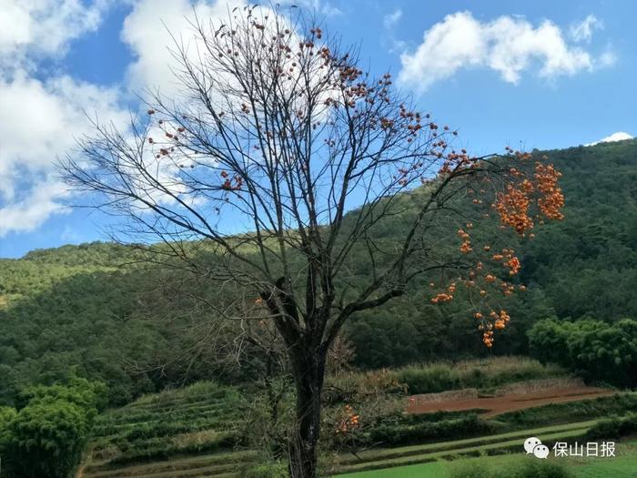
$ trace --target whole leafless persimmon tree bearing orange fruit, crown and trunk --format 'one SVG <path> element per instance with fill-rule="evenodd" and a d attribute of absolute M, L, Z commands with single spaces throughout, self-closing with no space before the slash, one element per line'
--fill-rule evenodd
<path fill-rule="evenodd" d="M 498 245 L 506 229 L 528 236 L 540 217 L 560 219 L 563 198 L 559 173 L 529 154 L 455 150 L 457 132 L 420 112 L 389 73 L 363 71 L 354 50 L 294 12 L 194 18 L 194 37 L 167 55 L 179 93 L 149 92 L 147 115 L 127 130 L 95 123 L 62 168 L 71 187 L 121 214 L 137 243 L 164 244 L 148 247 L 153 260 L 217 283 L 220 298 L 251 294 L 248 312 L 222 299 L 213 309 L 251 327 L 267 320 L 285 344 L 296 385 L 289 470 L 313 478 L 326 357 L 343 324 L 436 271 L 429 299 L 475 290 L 471 313 L 490 347 L 509 321 L 492 304 L 520 270 Z M 404 212 L 405 194 L 409 224 L 391 244 L 375 239 Z M 503 229 L 478 244 L 473 230 L 491 216 Z M 443 252 L 451 239 L 435 231 L 456 223 L 460 241 Z M 214 259 L 199 261 L 204 251 Z"/>

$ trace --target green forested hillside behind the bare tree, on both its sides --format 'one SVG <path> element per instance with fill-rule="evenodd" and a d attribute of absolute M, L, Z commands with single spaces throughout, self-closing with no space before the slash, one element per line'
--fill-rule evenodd
<path fill-rule="evenodd" d="M 460 294 L 451 305 L 434 306 L 423 283 L 349 323 L 357 365 L 525 354 L 527 332 L 538 320 L 610 325 L 637 318 L 637 141 L 545 154 L 563 173 L 565 219 L 516 247 L 527 290 L 511 298 L 511 327 L 493 349 L 482 346 Z M 391 240 L 400 216 L 392 220 L 375 232 L 379 238 Z M 219 378 L 205 352 L 175 360 L 196 340 L 189 325 L 204 311 L 188 300 L 162 302 L 163 288 L 177 286 L 134 259 L 132 249 L 107 243 L 0 259 L 0 403 L 13 403 L 25 385 L 72 375 L 106 382 L 111 403 Z"/>

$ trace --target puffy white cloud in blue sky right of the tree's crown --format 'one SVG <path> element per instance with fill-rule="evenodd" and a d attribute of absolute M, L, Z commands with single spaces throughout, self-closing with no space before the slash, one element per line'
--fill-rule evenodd
<path fill-rule="evenodd" d="M 419 92 L 471 66 L 488 67 L 515 84 L 536 64 L 539 76 L 553 78 L 591 71 L 599 63 L 581 47 L 569 45 L 560 27 L 549 20 L 533 26 L 522 17 L 503 15 L 482 23 L 470 12 L 447 15 L 400 61 L 399 80 Z"/>

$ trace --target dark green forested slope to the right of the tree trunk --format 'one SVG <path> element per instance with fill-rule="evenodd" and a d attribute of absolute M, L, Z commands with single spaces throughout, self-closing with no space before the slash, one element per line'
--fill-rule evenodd
<path fill-rule="evenodd" d="M 551 315 L 637 318 L 637 142 L 546 154 L 563 173 L 565 219 L 546 224 L 536 239 L 519 245 L 521 282 L 528 289 L 511 300 L 511 327 L 503 331 L 506 339 L 494 347 L 496 353 L 526 353 L 526 331 Z M 427 290 L 415 290 L 350 324 L 359 364 L 378 367 L 484 352 L 464 304 L 440 310 L 428 298 Z"/>

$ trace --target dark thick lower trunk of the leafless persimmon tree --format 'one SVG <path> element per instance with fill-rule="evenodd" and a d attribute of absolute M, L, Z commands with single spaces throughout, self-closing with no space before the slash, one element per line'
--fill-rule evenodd
<path fill-rule="evenodd" d="M 291 478 L 317 478 L 320 407 L 325 353 L 319 348 L 300 347 L 290 352 L 297 387 L 296 430 L 290 442 Z"/>

